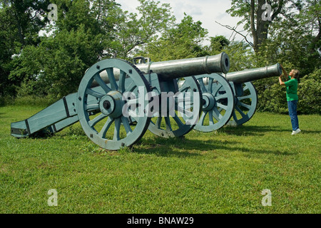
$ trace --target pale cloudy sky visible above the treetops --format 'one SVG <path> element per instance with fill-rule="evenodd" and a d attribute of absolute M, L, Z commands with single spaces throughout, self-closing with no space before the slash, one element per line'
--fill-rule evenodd
<path fill-rule="evenodd" d="M 231 40 L 231 36 L 235 35 L 233 31 L 220 26 L 220 24 L 235 27 L 240 18 L 232 17 L 226 13 L 226 10 L 230 9 L 230 0 L 156 0 L 161 4 L 170 4 L 173 14 L 176 18 L 176 22 L 180 21 L 184 17 L 184 13 L 192 16 L 194 21 L 202 22 L 203 28 L 208 29 L 208 36 L 225 36 Z M 139 5 L 137 0 L 116 0 L 121 4 L 121 8 L 130 13 L 137 12 L 136 7 Z M 215 21 L 218 21 L 217 24 Z M 238 31 L 242 31 L 243 26 L 238 27 Z M 243 33 L 246 35 L 246 33 Z M 232 36 L 232 38 L 233 38 Z M 242 40 L 240 35 L 235 36 L 236 41 Z M 250 40 L 250 36 L 248 36 Z"/>

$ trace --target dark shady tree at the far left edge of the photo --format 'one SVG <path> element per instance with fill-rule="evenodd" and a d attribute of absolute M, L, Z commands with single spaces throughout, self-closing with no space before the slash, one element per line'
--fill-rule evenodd
<path fill-rule="evenodd" d="M 0 1 L 0 97 L 14 95 L 21 78 L 8 78 L 12 56 L 19 56 L 22 48 L 38 45 L 39 31 L 46 26 L 46 7 L 49 0 Z"/>

